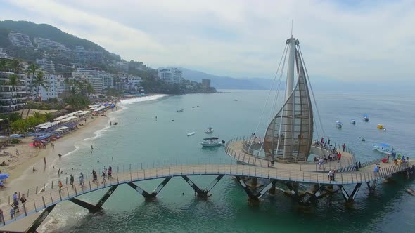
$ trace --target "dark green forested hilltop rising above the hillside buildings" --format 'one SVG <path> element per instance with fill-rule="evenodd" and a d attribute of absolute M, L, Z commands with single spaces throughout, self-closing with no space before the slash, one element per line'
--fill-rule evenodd
<path fill-rule="evenodd" d="M 0 21 L 0 46 L 11 45 L 7 38 L 8 33 L 11 31 L 27 34 L 32 42 L 34 37 L 41 37 L 64 44 L 71 49 L 75 49 L 75 46 L 83 46 L 86 50 L 102 51 L 103 53 L 109 54 L 105 48 L 87 39 L 81 39 L 77 36 L 62 32 L 60 29 L 51 25 L 36 24 L 28 21 Z"/>

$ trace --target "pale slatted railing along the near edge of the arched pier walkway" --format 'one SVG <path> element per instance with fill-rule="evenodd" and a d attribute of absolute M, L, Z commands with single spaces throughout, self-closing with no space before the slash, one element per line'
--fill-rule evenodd
<path fill-rule="evenodd" d="M 392 165 L 382 168 L 378 173 L 367 171 L 338 173 L 335 175 L 335 180 L 328 179 L 328 176 L 324 173 L 289 171 L 240 164 L 191 164 L 139 169 L 137 171 L 127 171 L 125 173 L 113 173 L 113 179 L 110 179 L 108 182 L 104 183 L 92 182 L 90 179 L 85 180 L 84 187 L 77 187 L 77 185 L 74 187 L 71 187 L 71 185 L 64 185 L 62 189 L 59 189 L 55 185 L 54 187 L 51 187 L 51 189 L 47 189 L 44 192 L 34 194 L 27 198 L 27 202 L 20 206 L 20 215 L 15 215 L 13 219 L 8 218 L 8 220 L 5 220 L 5 223 L 8 224 L 20 218 L 25 218 L 25 216 L 41 211 L 43 208 L 52 206 L 53 204 L 57 204 L 61 201 L 72 199 L 82 194 L 94 192 L 113 185 L 121 185 L 127 182 L 136 182 L 141 180 L 153 180 L 157 178 L 183 175 L 232 175 L 327 185 L 347 185 L 387 178 L 394 173 L 405 171 L 409 167 L 409 163 L 403 163 L 400 165 Z M 11 208 L 12 207 L 10 205 L 7 205 L 2 208 L 2 211 L 3 213 L 9 213 Z"/>

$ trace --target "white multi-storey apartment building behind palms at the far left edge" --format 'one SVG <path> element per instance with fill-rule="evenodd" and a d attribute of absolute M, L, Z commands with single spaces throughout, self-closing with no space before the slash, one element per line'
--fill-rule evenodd
<path fill-rule="evenodd" d="M 10 91 L 12 86 L 8 85 L 8 76 L 11 72 L 0 72 L 0 112 L 8 112 L 10 107 Z M 15 86 L 15 90 L 12 95 L 11 110 L 16 111 L 22 109 L 26 104 L 27 92 L 26 92 L 26 75 L 18 74 L 18 86 Z"/>

